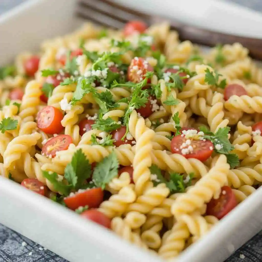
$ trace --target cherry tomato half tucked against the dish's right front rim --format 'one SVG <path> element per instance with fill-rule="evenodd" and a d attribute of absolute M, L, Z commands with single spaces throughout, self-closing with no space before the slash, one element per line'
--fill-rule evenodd
<path fill-rule="evenodd" d="M 206 214 L 215 216 L 217 219 L 223 218 L 237 205 L 237 199 L 233 190 L 224 186 L 218 199 L 212 198 L 206 206 Z"/>

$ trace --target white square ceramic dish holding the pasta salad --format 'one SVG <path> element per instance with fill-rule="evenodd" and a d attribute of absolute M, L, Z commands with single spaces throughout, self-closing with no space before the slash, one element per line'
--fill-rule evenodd
<path fill-rule="evenodd" d="M 125 0 L 117 2 L 125 3 Z M 0 17 L 0 65 L 10 62 L 21 51 L 37 50 L 47 38 L 72 31 L 79 24 L 74 17 L 75 5 L 76 1 L 68 0 L 33 0 Z M 160 1 L 133 0 L 128 5 L 189 23 L 193 17 L 194 24 L 203 27 L 208 24 L 209 29 L 216 31 L 262 38 L 262 31 L 258 30 L 262 17 L 258 13 L 223 2 L 184 0 L 175 4 L 168 0 L 162 6 Z M 223 21 L 217 23 L 221 17 L 215 13 L 222 11 Z M 262 229 L 261 199 L 262 188 L 183 252 L 178 260 L 222 262 Z M 161 261 L 3 177 L 0 177 L 0 222 L 71 262 Z"/>

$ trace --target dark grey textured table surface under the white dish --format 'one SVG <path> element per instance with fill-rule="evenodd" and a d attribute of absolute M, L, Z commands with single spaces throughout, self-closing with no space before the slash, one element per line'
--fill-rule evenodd
<path fill-rule="evenodd" d="M 0 0 L 0 14 L 24 1 L 25 0 Z M 255 10 L 261 10 L 262 12 L 262 0 L 227 1 L 239 3 Z M 260 233 L 238 249 L 225 262 L 261 261 L 262 234 Z M 67 260 L 0 224 L 0 262 L 67 262 Z"/>

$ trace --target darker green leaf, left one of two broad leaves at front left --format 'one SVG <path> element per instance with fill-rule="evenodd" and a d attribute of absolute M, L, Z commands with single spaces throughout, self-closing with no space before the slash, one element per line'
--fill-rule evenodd
<path fill-rule="evenodd" d="M 82 149 L 77 150 L 70 163 L 65 167 L 64 178 L 68 183 L 78 190 L 82 187 L 83 182 L 91 176 L 91 165 L 86 158 Z"/>

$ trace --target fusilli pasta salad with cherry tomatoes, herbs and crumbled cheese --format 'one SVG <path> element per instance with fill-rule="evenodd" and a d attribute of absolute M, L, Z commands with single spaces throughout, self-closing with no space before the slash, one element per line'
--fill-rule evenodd
<path fill-rule="evenodd" d="M 167 23 L 91 23 L 0 68 L 0 174 L 175 258 L 262 182 L 262 69 Z"/>

